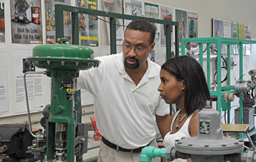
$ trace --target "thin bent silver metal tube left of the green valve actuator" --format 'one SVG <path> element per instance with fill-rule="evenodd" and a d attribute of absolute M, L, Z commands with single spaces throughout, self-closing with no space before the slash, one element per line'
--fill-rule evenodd
<path fill-rule="evenodd" d="M 37 136 L 35 134 L 33 134 L 32 132 L 32 123 L 31 123 L 31 117 L 30 117 L 30 106 L 28 104 L 28 91 L 27 91 L 27 84 L 26 84 L 26 75 L 28 73 L 43 73 L 45 74 L 46 71 L 27 71 L 26 73 L 24 73 L 24 77 L 23 77 L 23 80 L 24 80 L 24 89 L 25 89 L 25 98 L 26 98 L 26 105 L 27 105 L 27 111 L 28 111 L 28 125 L 30 126 L 30 134 L 34 137 L 34 138 L 37 138 L 37 137 L 40 137 L 40 136 Z"/>

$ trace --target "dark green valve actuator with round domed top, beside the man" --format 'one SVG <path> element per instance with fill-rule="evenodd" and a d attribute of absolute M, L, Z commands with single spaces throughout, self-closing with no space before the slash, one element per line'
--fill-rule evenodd
<path fill-rule="evenodd" d="M 47 161 L 74 162 L 75 117 L 74 78 L 79 70 L 88 70 L 100 64 L 93 59 L 92 49 L 79 45 L 39 45 L 33 48 L 33 56 L 27 58 L 37 68 L 47 69 L 51 77 L 51 106 L 47 127 Z"/>

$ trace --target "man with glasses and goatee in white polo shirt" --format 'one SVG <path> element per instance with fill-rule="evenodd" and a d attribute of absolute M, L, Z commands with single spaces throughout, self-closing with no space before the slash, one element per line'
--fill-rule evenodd
<path fill-rule="evenodd" d="M 102 134 L 98 162 L 139 162 L 142 148 L 157 147 L 156 122 L 162 137 L 170 131 L 169 106 L 157 90 L 160 66 L 148 58 L 155 34 L 149 22 L 135 20 L 125 30 L 123 52 L 98 57 L 98 68 L 80 71 L 77 89 L 93 94 Z"/>

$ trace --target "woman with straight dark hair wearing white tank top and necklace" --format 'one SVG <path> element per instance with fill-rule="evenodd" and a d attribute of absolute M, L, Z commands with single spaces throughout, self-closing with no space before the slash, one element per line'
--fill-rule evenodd
<path fill-rule="evenodd" d="M 175 140 L 198 135 L 198 111 L 211 100 L 200 64 L 190 56 L 167 60 L 161 66 L 160 95 L 167 104 L 176 104 L 179 111 L 171 116 L 170 128 L 163 138 L 165 148 L 174 147 Z M 175 159 L 191 161 L 191 159 Z"/>

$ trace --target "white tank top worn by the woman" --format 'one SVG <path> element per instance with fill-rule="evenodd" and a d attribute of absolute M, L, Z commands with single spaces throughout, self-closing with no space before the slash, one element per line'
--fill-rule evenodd
<path fill-rule="evenodd" d="M 179 110 L 181 111 L 181 110 Z M 177 118 L 177 115 L 179 113 L 179 111 L 177 111 L 173 117 L 173 121 L 171 121 L 171 131 L 173 128 L 173 123 L 175 121 L 175 119 Z M 194 113 L 196 113 L 197 111 L 194 111 Z M 163 138 L 163 145 L 165 146 L 165 148 L 167 147 L 175 147 L 175 140 L 179 140 L 182 137 L 187 138 L 187 137 L 191 137 L 189 132 L 188 132 L 188 125 L 190 123 L 190 119 L 192 118 L 192 116 L 194 115 L 194 113 L 190 114 L 188 119 L 186 119 L 184 125 L 182 125 L 181 129 L 179 129 L 178 132 L 175 132 L 175 134 L 171 134 L 170 132 L 167 132 L 167 134 L 165 135 L 165 138 Z M 175 162 L 183 162 L 183 161 L 187 161 L 186 159 L 175 159 Z"/>

